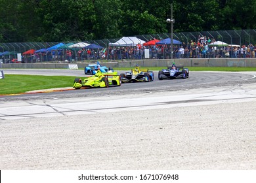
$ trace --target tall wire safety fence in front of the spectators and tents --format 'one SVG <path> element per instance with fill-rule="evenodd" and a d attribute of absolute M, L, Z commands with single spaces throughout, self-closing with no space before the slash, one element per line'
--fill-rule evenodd
<path fill-rule="evenodd" d="M 170 33 L 135 35 L 138 39 L 148 42 L 154 39 L 163 40 L 170 38 Z M 223 45 L 198 46 L 198 41 L 206 38 L 207 44 L 219 41 Z M 255 58 L 256 30 L 232 30 L 232 31 L 200 31 L 173 33 L 173 40 L 182 42 L 173 45 L 173 52 L 169 44 L 142 46 L 137 49 L 137 44 L 132 46 L 116 45 L 110 46 L 112 42 L 118 42 L 122 38 L 102 39 L 94 41 L 66 41 L 66 42 L 8 42 L 0 43 L 0 60 L 3 63 L 14 62 L 42 62 L 42 61 L 82 61 L 87 59 L 145 59 L 144 49 L 149 49 L 149 59 L 169 59 L 173 58 Z M 53 46 L 62 44 L 56 49 L 47 50 Z M 78 46 L 72 47 L 77 44 Z M 93 45 L 87 48 L 87 46 Z M 179 53 L 179 49 L 184 49 L 184 53 Z M 207 50 L 205 50 L 207 47 Z M 236 47 L 236 49 L 234 49 Z M 246 48 L 246 50 L 243 50 Z M 31 51 L 31 52 L 30 52 Z M 27 53 L 26 53 L 27 52 Z M 176 53 L 177 52 L 177 53 Z M 26 54 L 24 54 L 26 53 Z M 18 54 L 21 60 L 18 61 Z"/>

